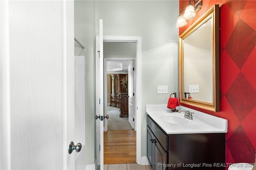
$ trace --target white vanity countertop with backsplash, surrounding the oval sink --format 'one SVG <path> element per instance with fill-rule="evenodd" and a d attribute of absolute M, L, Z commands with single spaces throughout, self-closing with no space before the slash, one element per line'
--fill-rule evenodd
<path fill-rule="evenodd" d="M 186 124 L 173 124 L 164 121 L 161 116 L 164 115 L 182 115 L 184 112 L 172 112 L 167 105 L 146 105 L 146 113 L 167 133 L 167 134 L 187 134 L 187 133 L 226 133 L 228 131 L 228 120 L 202 113 L 194 109 L 179 106 L 176 109 L 190 110 L 194 112 L 193 120 L 187 119 Z M 186 118 L 184 118 L 186 119 Z"/>

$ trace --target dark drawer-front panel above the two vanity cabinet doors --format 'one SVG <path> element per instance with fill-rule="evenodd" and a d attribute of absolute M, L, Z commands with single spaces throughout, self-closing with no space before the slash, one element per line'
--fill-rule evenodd
<path fill-rule="evenodd" d="M 154 133 L 164 150 L 168 150 L 168 135 L 163 132 L 158 125 L 147 115 L 147 124 L 150 130 Z"/>

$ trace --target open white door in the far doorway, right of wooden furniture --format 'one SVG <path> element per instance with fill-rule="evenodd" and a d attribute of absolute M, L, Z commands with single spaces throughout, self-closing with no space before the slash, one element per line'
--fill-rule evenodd
<path fill-rule="evenodd" d="M 128 121 L 134 128 L 134 61 L 128 65 Z"/>

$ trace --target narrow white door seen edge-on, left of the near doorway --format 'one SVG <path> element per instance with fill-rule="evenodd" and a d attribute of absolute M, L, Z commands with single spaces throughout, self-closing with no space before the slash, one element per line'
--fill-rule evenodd
<path fill-rule="evenodd" d="M 104 69 L 103 69 L 103 20 L 100 20 L 100 36 L 96 38 L 96 159 L 100 170 L 104 165 Z"/>

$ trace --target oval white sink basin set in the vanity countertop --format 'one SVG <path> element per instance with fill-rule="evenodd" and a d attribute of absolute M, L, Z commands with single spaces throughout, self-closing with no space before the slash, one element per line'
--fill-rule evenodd
<path fill-rule="evenodd" d="M 161 115 L 161 119 L 163 121 L 166 121 L 168 123 L 183 125 L 190 122 L 189 119 L 186 119 L 184 115 L 174 115 L 174 114 L 168 114 L 168 115 Z"/>

